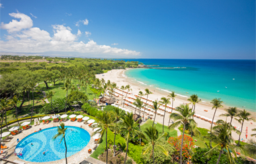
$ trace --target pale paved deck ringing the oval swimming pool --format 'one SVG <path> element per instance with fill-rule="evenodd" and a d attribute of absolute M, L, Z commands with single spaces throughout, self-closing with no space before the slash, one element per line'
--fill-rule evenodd
<path fill-rule="evenodd" d="M 89 132 L 89 134 L 91 135 L 93 133 L 93 128 L 89 128 L 88 124 L 83 124 L 83 122 L 71 122 L 70 120 L 67 120 L 66 122 L 64 122 L 65 126 L 76 126 L 76 127 L 80 127 L 82 126 L 82 128 L 84 130 L 87 130 L 87 132 Z M 39 128 L 46 129 L 46 128 L 52 128 L 55 126 L 59 126 L 59 122 L 50 122 L 49 124 L 40 124 L 39 126 L 32 126 L 32 128 L 28 129 L 28 130 L 22 130 L 22 132 L 20 134 L 17 134 L 16 136 L 13 136 L 13 139 L 11 140 L 11 142 L 3 142 L 5 143 L 5 145 L 7 145 L 7 147 L 9 147 L 8 149 L 5 149 L 5 151 L 7 151 L 7 153 L 4 155 L 6 155 L 7 160 L 9 161 L 22 161 L 26 164 L 28 163 L 38 163 L 38 162 L 30 162 L 30 161 L 24 161 L 22 159 L 20 159 L 19 157 L 17 157 L 14 154 L 14 150 L 15 147 L 17 146 L 17 138 L 19 138 L 19 140 L 21 141 L 23 138 L 25 138 L 26 136 L 28 136 L 29 134 L 34 133 L 34 131 L 38 131 Z M 68 141 L 67 141 L 68 142 Z M 70 157 L 67 157 L 67 163 L 81 163 L 81 161 L 85 160 L 87 157 L 90 156 L 90 154 L 88 153 L 88 149 L 92 149 L 93 147 L 95 147 L 96 144 L 94 144 L 94 139 L 91 138 L 89 143 L 78 153 L 75 153 L 74 155 L 71 155 Z M 1 155 L 0 157 L 3 157 L 3 155 Z M 3 161 L 1 161 L 0 163 L 3 163 Z M 7 162 L 6 162 L 7 163 Z M 50 161 L 50 162 L 40 162 L 42 163 L 56 163 L 56 164 L 61 164 L 61 163 L 65 163 L 65 158 L 64 159 L 60 159 L 57 161 Z"/>

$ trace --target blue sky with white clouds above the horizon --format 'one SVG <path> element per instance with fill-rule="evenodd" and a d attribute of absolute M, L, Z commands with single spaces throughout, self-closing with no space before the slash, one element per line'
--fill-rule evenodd
<path fill-rule="evenodd" d="M 255 60 L 255 1 L 1 0 L 0 51 Z"/>

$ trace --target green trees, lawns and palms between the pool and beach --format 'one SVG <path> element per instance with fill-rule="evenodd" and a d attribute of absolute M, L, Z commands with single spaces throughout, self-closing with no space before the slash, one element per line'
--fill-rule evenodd
<path fill-rule="evenodd" d="M 118 87 L 111 81 L 97 79 L 95 74 L 118 67 L 138 67 L 138 62 L 81 58 L 46 58 L 46 61 L 1 63 L 6 68 L 0 79 L 3 98 L 0 103 L 1 133 L 19 124 L 22 119 L 32 120 L 45 114 L 83 114 L 97 122 L 93 128 L 99 129 L 92 136 L 101 134 L 99 146 L 91 157 L 106 163 L 250 163 L 244 155 L 255 158 L 255 142 L 240 144 L 240 136 L 237 143 L 232 137 L 232 132 L 237 132 L 231 124 L 232 120 L 241 122 L 241 128 L 245 121 L 253 120 L 246 110 L 229 108 L 222 116 L 231 117 L 230 122 L 218 120 L 216 125 L 212 124 L 210 130 L 206 130 L 197 127 L 194 120 L 196 104 L 200 99 L 197 95 L 192 95 L 189 98 L 192 107 L 190 104 L 181 104 L 175 109 L 172 108 L 169 125 L 165 126 L 166 107 L 169 104 L 173 107 L 175 101 L 176 95 L 173 91 L 167 97 L 162 97 L 161 101 L 153 101 L 153 120 L 143 122 L 145 115 L 143 120 L 134 120 L 133 112 L 126 114 L 120 108 L 97 104 L 97 99 L 105 97 L 107 92 L 110 94 L 108 102 L 114 99 L 114 92 Z M 132 91 L 130 85 L 120 89 Z M 146 89 L 145 93 L 141 91 L 140 97 L 137 97 L 134 105 L 139 111 L 138 115 L 141 116 L 141 110 L 145 111 L 150 94 L 151 91 Z M 127 95 L 126 93 L 125 98 Z M 142 95 L 146 96 L 146 104 L 142 102 Z M 74 104 L 81 107 L 81 111 L 75 111 Z M 121 104 L 124 106 L 122 101 Z M 155 122 L 160 104 L 165 106 L 163 124 Z M 212 106 L 215 116 L 216 110 L 222 106 L 221 99 L 213 99 Z M 24 118 L 20 118 L 21 116 Z M 5 126 L 6 129 L 3 129 Z M 180 136 L 175 128 L 181 130 Z M 68 142 L 65 141 L 65 130 L 64 124 L 61 124 L 54 138 L 61 136 L 64 142 Z M 240 135 L 241 131 L 237 133 Z M 113 161 L 109 155 L 117 156 L 118 160 Z"/>

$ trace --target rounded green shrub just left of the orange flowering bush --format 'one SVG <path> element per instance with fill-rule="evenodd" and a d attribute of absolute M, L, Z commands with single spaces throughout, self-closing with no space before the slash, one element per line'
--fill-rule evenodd
<path fill-rule="evenodd" d="M 157 144 L 164 147 L 169 152 L 169 155 L 165 155 L 164 153 L 159 151 L 159 149 L 154 149 L 155 163 L 171 163 L 171 154 L 174 153 L 173 146 L 171 144 L 168 144 L 165 140 L 160 140 L 159 142 L 157 142 Z M 142 152 L 144 152 L 146 148 L 147 147 L 144 147 L 142 149 Z M 153 163 L 153 157 L 151 156 L 151 153 L 152 149 L 150 149 L 145 155 L 141 155 L 141 157 L 143 158 L 143 163 Z"/>

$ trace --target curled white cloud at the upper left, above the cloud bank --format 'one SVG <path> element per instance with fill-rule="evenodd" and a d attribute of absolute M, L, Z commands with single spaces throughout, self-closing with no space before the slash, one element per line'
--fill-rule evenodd
<path fill-rule="evenodd" d="M 8 32 L 17 32 L 25 28 L 31 28 L 33 26 L 33 21 L 27 15 L 22 13 L 10 13 L 11 17 L 15 17 L 15 19 L 21 19 L 21 21 L 17 21 L 13 19 L 8 24 L 4 24 L 1 22 L 1 28 L 6 29 Z"/>

